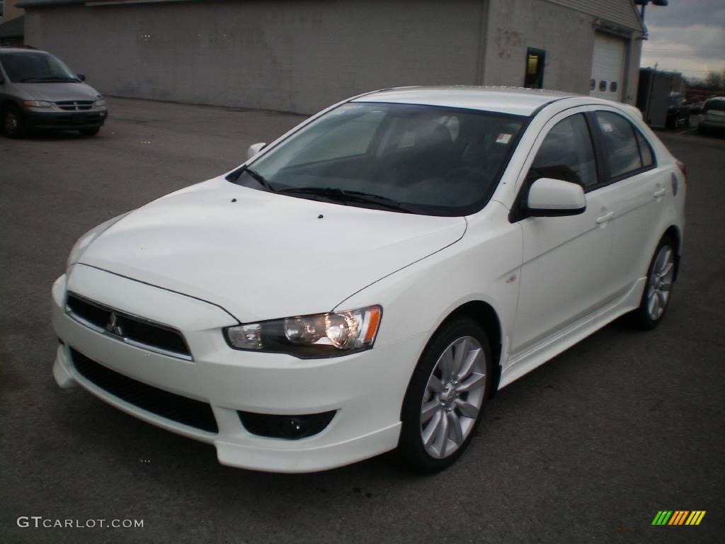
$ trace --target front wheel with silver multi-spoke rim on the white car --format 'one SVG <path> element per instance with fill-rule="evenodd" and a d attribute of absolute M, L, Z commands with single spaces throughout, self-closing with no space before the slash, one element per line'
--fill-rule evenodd
<path fill-rule="evenodd" d="M 492 368 L 489 339 L 476 321 L 459 318 L 436 331 L 403 401 L 398 454 L 408 469 L 431 474 L 460 457 L 481 421 Z"/>

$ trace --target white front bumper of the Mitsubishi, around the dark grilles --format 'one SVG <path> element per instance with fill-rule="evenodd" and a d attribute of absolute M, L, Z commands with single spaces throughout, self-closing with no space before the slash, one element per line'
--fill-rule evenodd
<path fill-rule="evenodd" d="M 181 331 L 193 360 L 120 342 L 79 323 L 65 311 L 73 292 Z M 425 338 L 374 347 L 347 357 L 300 360 L 290 355 L 231 350 L 221 328 L 236 324 L 225 310 L 182 294 L 84 265 L 53 286 L 53 326 L 63 344 L 53 373 L 107 403 L 164 429 L 215 446 L 220 463 L 276 472 L 332 469 L 397 446 L 400 408 Z M 165 392 L 208 403 L 218 432 L 207 432 L 126 402 L 84 378 L 71 348 L 123 376 Z M 248 432 L 238 411 L 304 415 L 334 411 L 319 434 L 299 440 Z"/>

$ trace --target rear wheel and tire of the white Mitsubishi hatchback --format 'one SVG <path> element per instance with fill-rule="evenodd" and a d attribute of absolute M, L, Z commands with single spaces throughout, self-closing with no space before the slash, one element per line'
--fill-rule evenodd
<path fill-rule="evenodd" d="M 645 331 L 660 324 L 674 285 L 677 246 L 669 236 L 664 237 L 655 250 L 652 262 L 647 268 L 647 284 L 642 293 L 639 308 L 629 314 L 629 322 Z"/>

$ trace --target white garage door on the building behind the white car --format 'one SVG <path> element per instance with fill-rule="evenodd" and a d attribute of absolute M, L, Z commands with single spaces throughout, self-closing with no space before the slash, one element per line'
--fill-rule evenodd
<path fill-rule="evenodd" d="M 625 54 L 626 41 L 622 38 L 595 34 L 589 94 L 598 98 L 621 101 L 624 91 Z"/>

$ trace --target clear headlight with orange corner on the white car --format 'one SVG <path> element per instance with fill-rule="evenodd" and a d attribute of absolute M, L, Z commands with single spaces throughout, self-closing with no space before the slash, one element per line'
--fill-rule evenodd
<path fill-rule="evenodd" d="M 227 327 L 235 350 L 289 353 L 302 359 L 348 355 L 373 347 L 383 309 L 370 306 Z"/>

